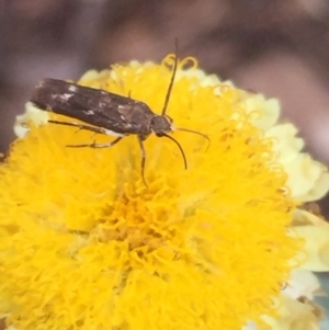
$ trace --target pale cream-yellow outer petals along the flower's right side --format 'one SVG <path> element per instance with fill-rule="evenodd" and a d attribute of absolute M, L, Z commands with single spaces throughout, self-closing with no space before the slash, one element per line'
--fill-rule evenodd
<path fill-rule="evenodd" d="M 273 150 L 277 153 L 277 161 L 287 173 L 287 186 L 292 196 L 299 202 L 310 202 L 321 198 L 329 190 L 329 174 L 327 168 L 303 152 L 304 140 L 296 137 L 297 128 L 291 123 L 275 124 L 280 115 L 279 102 L 274 99 L 265 100 L 256 94 L 245 102 L 247 111 L 257 109 L 263 114 L 253 123 L 264 129 L 269 138 L 273 138 Z M 275 125 L 274 125 L 275 124 Z M 279 306 L 275 318 L 264 316 L 271 329 L 319 329 L 319 320 L 324 312 L 313 299 L 322 295 L 320 284 L 315 272 L 329 271 L 329 225 L 318 216 L 304 209 L 296 209 L 292 226 L 305 246 L 300 252 L 304 261 L 293 270 L 276 304 Z M 254 329 L 253 325 L 243 329 Z"/>

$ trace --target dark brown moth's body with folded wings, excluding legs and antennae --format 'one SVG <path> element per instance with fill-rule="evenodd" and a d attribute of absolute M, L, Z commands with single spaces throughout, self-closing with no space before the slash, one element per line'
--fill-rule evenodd
<path fill-rule="evenodd" d="M 41 81 L 31 102 L 42 110 L 101 127 L 107 135 L 135 134 L 144 140 L 151 133 L 161 136 L 171 132 L 169 118 L 156 115 L 144 102 L 63 80 Z"/>

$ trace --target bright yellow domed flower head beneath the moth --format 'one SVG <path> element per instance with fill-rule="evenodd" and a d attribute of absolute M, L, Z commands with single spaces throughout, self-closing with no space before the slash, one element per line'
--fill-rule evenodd
<path fill-rule="evenodd" d="M 89 71 L 80 84 L 160 113 L 172 56 Z M 186 68 L 186 65 L 190 67 Z M 188 159 L 150 136 L 107 149 L 73 127 L 31 125 L 0 168 L 0 311 L 19 329 L 240 329 L 273 316 L 300 242 L 295 201 L 250 95 L 179 64 L 168 115 Z M 71 118 L 54 118 L 76 122 Z M 43 121 L 41 121 L 43 122 Z"/>

